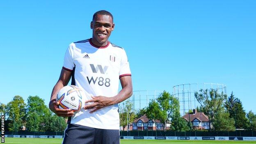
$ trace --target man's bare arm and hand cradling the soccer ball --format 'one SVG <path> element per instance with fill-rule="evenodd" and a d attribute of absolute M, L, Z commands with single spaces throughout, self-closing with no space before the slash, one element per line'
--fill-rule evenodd
<path fill-rule="evenodd" d="M 50 98 L 49 108 L 55 114 L 61 117 L 71 117 L 73 116 L 74 112 L 70 111 L 69 109 L 59 109 L 58 105 L 59 102 L 56 102 L 56 96 L 62 87 L 66 86 L 69 83 L 71 78 L 72 72 L 62 69 L 59 80 L 57 81 L 56 85 L 53 87 L 53 91 Z"/>

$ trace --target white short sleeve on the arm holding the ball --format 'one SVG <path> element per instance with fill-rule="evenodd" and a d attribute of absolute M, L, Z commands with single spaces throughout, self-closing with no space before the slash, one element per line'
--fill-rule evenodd
<path fill-rule="evenodd" d="M 73 62 L 73 50 L 72 50 L 72 44 L 69 45 L 69 48 L 67 48 L 65 56 L 64 56 L 64 62 L 63 62 L 63 69 L 67 71 L 73 71 L 73 68 L 75 67 L 75 64 Z"/>

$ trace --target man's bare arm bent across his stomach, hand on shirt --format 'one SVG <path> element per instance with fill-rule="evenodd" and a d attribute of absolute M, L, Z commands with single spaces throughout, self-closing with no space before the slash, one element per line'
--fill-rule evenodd
<path fill-rule="evenodd" d="M 95 112 L 103 107 L 121 103 L 133 94 L 133 85 L 131 76 L 123 76 L 120 78 L 122 90 L 116 96 L 92 96 L 91 100 L 87 100 L 85 103 L 94 102 L 91 105 L 86 105 L 85 110 L 94 109 L 91 112 Z"/>

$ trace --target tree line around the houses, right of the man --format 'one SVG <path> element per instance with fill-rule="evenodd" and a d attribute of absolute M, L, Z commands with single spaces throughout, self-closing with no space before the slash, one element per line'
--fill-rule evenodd
<path fill-rule="evenodd" d="M 201 89 L 194 93 L 200 106 L 197 112 L 203 112 L 209 118 L 210 130 L 234 131 L 253 130 L 256 131 L 256 114 L 252 111 L 246 114 L 242 102 L 233 94 L 227 97 L 215 89 Z M 190 110 L 189 112 L 191 112 Z M 170 130 L 189 131 L 193 130 L 192 123 L 185 121 L 180 115 L 178 98 L 163 91 L 158 98 L 150 101 L 149 105 L 137 112 L 132 111 L 132 103 L 126 101 L 119 105 L 120 126 L 127 126 L 135 119 L 146 114 L 149 119 L 158 119 L 163 123 L 164 130 L 167 123 L 171 123 Z M 127 119 L 128 117 L 128 119 Z"/>

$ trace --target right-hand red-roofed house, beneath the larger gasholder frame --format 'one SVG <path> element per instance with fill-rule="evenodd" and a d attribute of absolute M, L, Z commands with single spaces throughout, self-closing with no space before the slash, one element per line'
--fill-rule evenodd
<path fill-rule="evenodd" d="M 210 129 L 209 118 L 203 112 L 197 112 L 197 110 L 194 109 L 192 113 L 185 114 L 183 118 L 187 122 L 190 121 L 192 123 L 193 129 L 198 129 L 198 130 Z"/>

